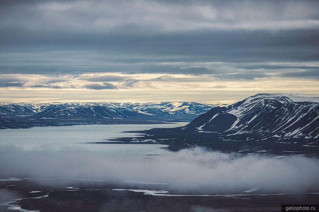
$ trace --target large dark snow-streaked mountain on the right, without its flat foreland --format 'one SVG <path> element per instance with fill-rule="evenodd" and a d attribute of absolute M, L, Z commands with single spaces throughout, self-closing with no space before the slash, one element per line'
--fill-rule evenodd
<path fill-rule="evenodd" d="M 318 138 L 319 97 L 257 94 L 228 107 L 214 107 L 182 128 L 264 139 Z"/>

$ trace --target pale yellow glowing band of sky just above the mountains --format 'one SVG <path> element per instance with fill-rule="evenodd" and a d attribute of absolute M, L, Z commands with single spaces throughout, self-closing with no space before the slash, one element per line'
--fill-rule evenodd
<path fill-rule="evenodd" d="M 111 81 L 89 81 L 94 77 L 117 76 Z M 25 101 L 217 101 L 234 103 L 257 93 L 307 93 L 319 95 L 319 81 L 269 77 L 225 81 L 205 75 L 94 73 L 55 77 L 36 74 L 3 74 L 16 78 L 20 87 L 0 88 L 1 102 Z M 161 78 L 162 77 L 162 78 Z M 116 89 L 88 89 L 89 84 L 111 83 Z M 36 87 L 34 87 L 36 86 Z"/>

